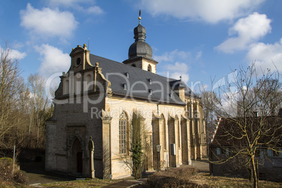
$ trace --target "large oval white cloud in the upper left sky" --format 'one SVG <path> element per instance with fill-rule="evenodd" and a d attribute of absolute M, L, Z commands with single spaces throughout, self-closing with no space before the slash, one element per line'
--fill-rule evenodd
<path fill-rule="evenodd" d="M 70 12 L 59 11 L 58 8 L 39 10 L 30 4 L 27 4 L 26 10 L 20 11 L 20 18 L 20 25 L 29 29 L 32 34 L 48 37 L 60 36 L 62 39 L 72 36 L 72 32 L 78 25 L 74 15 Z"/>

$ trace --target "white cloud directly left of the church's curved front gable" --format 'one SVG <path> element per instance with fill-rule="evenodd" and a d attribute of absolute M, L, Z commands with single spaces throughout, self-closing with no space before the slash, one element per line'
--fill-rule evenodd
<path fill-rule="evenodd" d="M 69 54 L 63 53 L 60 49 L 48 44 L 35 46 L 35 50 L 41 55 L 41 65 L 39 67 L 41 75 L 48 77 L 58 72 L 67 72 L 69 69 L 71 62 Z"/>

